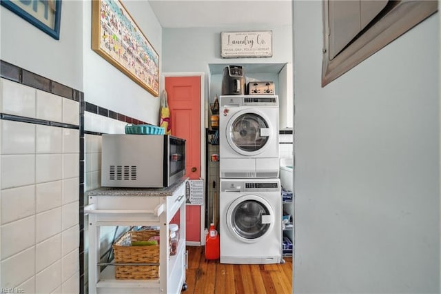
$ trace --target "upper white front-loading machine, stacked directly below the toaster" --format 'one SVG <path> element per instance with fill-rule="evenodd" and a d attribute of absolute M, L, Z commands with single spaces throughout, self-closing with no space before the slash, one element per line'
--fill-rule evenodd
<path fill-rule="evenodd" d="M 278 177 L 278 96 L 220 96 L 220 177 Z"/>

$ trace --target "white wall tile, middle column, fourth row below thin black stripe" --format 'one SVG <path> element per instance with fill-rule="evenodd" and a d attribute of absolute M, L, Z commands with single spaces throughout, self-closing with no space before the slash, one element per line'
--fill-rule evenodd
<path fill-rule="evenodd" d="M 61 207 L 39 213 L 35 233 L 37 243 L 61 233 Z"/>

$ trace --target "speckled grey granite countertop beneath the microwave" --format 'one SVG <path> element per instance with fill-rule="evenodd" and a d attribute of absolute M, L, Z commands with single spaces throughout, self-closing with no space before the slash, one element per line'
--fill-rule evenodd
<path fill-rule="evenodd" d="M 188 177 L 182 177 L 178 182 L 165 188 L 119 188 L 101 187 L 88 192 L 89 196 L 145 196 L 161 197 L 172 196 L 174 191 L 187 181 Z"/>

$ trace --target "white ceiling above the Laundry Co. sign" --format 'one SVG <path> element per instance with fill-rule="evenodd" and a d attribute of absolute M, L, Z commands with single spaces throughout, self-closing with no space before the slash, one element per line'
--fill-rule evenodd
<path fill-rule="evenodd" d="M 149 0 L 163 28 L 291 25 L 291 0 Z"/>

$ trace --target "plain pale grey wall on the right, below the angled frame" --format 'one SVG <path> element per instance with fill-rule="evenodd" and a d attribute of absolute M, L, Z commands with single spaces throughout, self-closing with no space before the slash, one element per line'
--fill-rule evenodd
<path fill-rule="evenodd" d="M 296 293 L 440 293 L 439 12 L 320 87 L 294 1 Z"/>

